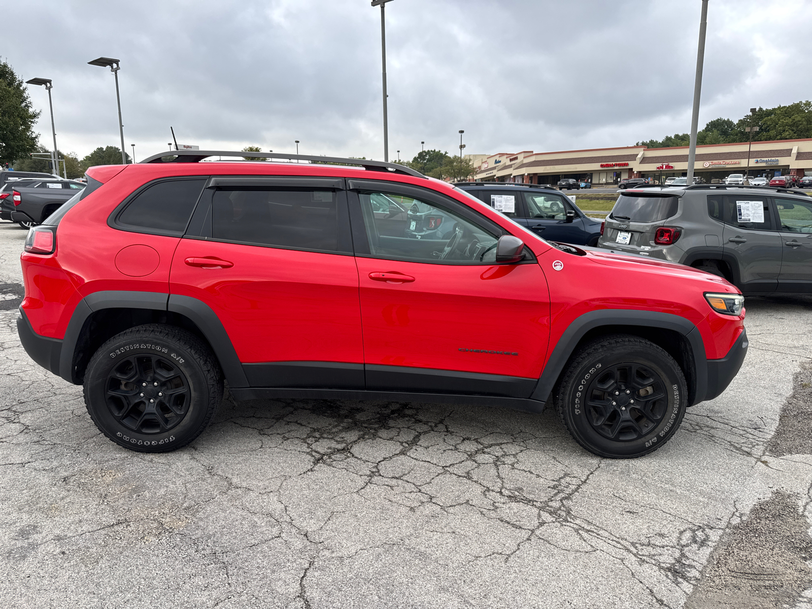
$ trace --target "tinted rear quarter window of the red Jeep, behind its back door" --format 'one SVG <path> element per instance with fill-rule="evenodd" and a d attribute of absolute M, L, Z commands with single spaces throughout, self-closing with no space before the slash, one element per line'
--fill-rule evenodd
<path fill-rule="evenodd" d="M 182 234 L 186 230 L 206 179 L 173 179 L 152 184 L 119 214 L 124 227 L 148 228 Z M 87 192 L 89 188 L 85 188 Z"/>

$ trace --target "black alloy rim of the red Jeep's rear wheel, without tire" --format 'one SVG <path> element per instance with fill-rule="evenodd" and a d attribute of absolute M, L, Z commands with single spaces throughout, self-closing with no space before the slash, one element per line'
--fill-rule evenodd
<path fill-rule="evenodd" d="M 189 383 L 165 357 L 133 355 L 110 370 L 106 397 L 110 414 L 121 425 L 140 434 L 158 434 L 183 421 Z"/>

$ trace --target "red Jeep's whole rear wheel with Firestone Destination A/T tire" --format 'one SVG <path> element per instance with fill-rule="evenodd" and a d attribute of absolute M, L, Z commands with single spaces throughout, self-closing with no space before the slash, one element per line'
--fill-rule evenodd
<path fill-rule="evenodd" d="M 132 451 L 186 446 L 209 425 L 222 391 L 222 373 L 209 348 L 188 331 L 162 324 L 115 335 L 84 375 L 84 404 L 93 423 Z"/>

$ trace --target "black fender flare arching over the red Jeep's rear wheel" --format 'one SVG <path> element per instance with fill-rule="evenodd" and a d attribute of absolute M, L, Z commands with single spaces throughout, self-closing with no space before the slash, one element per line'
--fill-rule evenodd
<path fill-rule="evenodd" d="M 62 352 L 59 356 L 59 376 L 67 382 L 76 384 L 76 343 L 92 313 L 102 309 L 153 309 L 156 311 L 173 311 L 188 317 L 209 341 L 218 358 L 223 374 L 230 387 L 248 387 L 240 358 L 231 344 L 226 329 L 217 315 L 197 298 L 191 296 L 169 295 L 161 292 L 129 292 L 110 290 L 93 292 L 76 304 L 67 324 L 63 339 Z"/>

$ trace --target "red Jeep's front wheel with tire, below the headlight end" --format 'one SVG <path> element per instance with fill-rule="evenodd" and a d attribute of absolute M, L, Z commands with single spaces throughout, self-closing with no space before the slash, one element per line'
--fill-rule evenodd
<path fill-rule="evenodd" d="M 685 375 L 648 340 L 612 335 L 581 348 L 555 391 L 572 438 L 595 455 L 643 456 L 671 439 L 687 407 Z"/>

